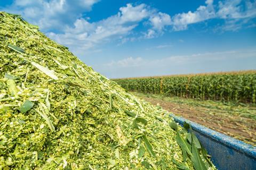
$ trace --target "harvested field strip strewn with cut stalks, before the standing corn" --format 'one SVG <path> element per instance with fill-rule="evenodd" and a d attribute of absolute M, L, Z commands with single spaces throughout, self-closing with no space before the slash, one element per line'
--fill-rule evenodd
<path fill-rule="evenodd" d="M 166 97 L 133 92 L 153 105 L 207 128 L 224 133 L 256 147 L 256 107 L 252 104 Z"/>

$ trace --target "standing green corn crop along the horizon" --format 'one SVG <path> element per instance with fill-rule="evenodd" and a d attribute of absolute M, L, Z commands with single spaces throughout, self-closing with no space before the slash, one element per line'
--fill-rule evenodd
<path fill-rule="evenodd" d="M 256 71 L 114 79 L 129 91 L 255 103 Z"/>

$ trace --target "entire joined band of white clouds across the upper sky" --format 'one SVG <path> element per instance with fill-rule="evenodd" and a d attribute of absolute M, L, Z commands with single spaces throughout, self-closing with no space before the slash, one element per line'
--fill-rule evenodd
<path fill-rule="evenodd" d="M 222 19 L 225 24 L 214 29 L 236 31 L 256 17 L 256 2 L 226 0 L 213 3 L 206 0 L 205 5 L 195 11 L 170 16 L 146 4 L 126 4 L 106 19 L 90 22 L 82 15 L 92 9 L 100 0 L 23 0 L 14 2 L 4 10 L 21 14 L 26 20 L 39 25 L 47 36 L 62 45 L 68 46 L 76 55 L 84 53 L 95 45 L 118 40 L 118 45 L 135 39 L 156 38 L 165 31 L 182 31 L 190 24 L 209 19 Z M 142 25 L 140 32 L 134 28 Z M 252 25 L 252 24 L 251 24 Z M 249 27 L 250 25 L 247 25 Z"/>

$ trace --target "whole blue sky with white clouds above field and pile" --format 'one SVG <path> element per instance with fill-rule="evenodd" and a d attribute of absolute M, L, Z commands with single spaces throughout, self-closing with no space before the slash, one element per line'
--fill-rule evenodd
<path fill-rule="evenodd" d="M 256 69 L 256 2 L 5 0 L 109 78 Z"/>

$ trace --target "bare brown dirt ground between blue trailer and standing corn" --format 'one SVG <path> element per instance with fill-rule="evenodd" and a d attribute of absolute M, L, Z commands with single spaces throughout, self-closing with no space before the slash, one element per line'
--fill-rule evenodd
<path fill-rule="evenodd" d="M 202 124 L 210 129 L 225 133 L 236 139 L 256 146 L 256 121 L 248 114 L 237 114 L 236 107 L 209 107 L 208 105 L 191 105 L 186 102 L 173 102 L 164 98 L 156 98 L 135 94 L 153 105 L 159 104 L 165 110 L 190 121 Z M 191 100 L 191 99 L 190 99 Z M 255 109 L 256 108 L 250 108 Z M 244 110 L 242 110 L 244 112 Z M 247 111 L 247 110 L 246 110 Z M 255 112 L 254 111 L 254 112 Z M 250 111 L 251 112 L 251 111 Z M 252 114 L 254 114 L 254 112 Z M 239 112 L 241 113 L 241 111 Z"/>

